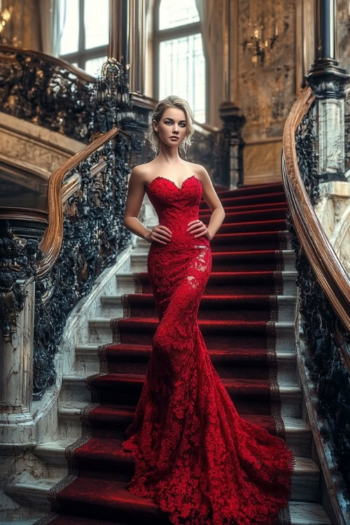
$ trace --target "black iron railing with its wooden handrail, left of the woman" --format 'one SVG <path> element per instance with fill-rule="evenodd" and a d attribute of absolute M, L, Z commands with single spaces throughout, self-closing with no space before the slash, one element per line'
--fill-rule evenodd
<path fill-rule="evenodd" d="M 69 312 L 130 242 L 123 226 L 129 151 L 126 134 L 113 129 L 50 180 L 49 226 L 36 272 L 34 399 L 55 383 L 52 363 Z"/>

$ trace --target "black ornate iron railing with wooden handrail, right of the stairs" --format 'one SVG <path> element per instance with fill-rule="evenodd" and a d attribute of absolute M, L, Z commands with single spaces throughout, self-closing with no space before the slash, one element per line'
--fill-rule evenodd
<path fill-rule="evenodd" d="M 350 280 L 319 223 L 312 203 L 318 199 L 313 104 L 307 87 L 298 97 L 283 131 L 282 172 L 299 288 L 303 360 L 307 367 L 314 430 L 334 465 L 325 472 L 328 492 L 337 473 L 350 494 Z M 337 478 L 339 483 L 339 477 Z"/>

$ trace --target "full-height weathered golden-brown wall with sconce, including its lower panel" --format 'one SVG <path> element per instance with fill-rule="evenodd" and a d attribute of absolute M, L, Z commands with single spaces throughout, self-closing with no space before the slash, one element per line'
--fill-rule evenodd
<path fill-rule="evenodd" d="M 296 45 L 301 24 L 296 0 L 239 0 L 232 13 L 230 27 L 237 38 L 230 83 L 235 104 L 246 117 L 245 184 L 281 180 L 283 125 L 302 76 Z"/>

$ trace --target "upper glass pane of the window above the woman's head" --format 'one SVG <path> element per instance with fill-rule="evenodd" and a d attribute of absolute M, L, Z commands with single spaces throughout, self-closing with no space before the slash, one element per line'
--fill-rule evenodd
<path fill-rule="evenodd" d="M 159 29 L 199 22 L 195 0 L 162 0 L 159 8 Z"/>

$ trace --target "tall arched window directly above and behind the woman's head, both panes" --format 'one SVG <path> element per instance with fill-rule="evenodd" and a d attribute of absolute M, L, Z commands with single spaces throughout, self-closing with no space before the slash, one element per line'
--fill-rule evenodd
<path fill-rule="evenodd" d="M 206 122 L 206 64 L 195 0 L 157 0 L 154 27 L 155 98 L 186 99 L 198 122 Z"/>

